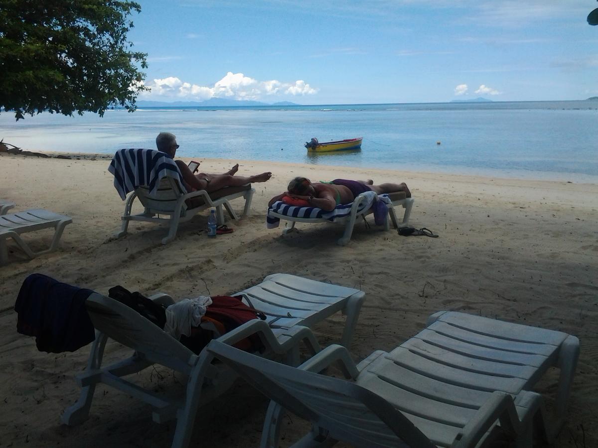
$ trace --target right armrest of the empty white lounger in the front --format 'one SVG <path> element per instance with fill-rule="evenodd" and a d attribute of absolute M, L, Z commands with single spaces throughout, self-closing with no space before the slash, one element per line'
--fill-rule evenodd
<path fill-rule="evenodd" d="M 492 392 L 486 403 L 478 409 L 478 412 L 468 424 L 463 426 L 462 431 L 457 435 L 451 446 L 476 446 L 483 435 L 492 429 L 497 420 L 501 422 L 502 429 L 515 435 L 521 434 L 524 429 L 523 426 L 531 423 L 531 419 L 526 418 L 524 424 L 521 424 L 511 395 L 506 392 L 495 391 Z"/>

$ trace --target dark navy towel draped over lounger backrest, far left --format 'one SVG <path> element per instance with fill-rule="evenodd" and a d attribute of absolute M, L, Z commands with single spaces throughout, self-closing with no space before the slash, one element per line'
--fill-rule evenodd
<path fill-rule="evenodd" d="M 38 350 L 48 353 L 72 352 L 89 344 L 96 339 L 85 308 L 91 293 L 47 275 L 29 275 L 14 304 L 17 332 L 35 336 Z"/>

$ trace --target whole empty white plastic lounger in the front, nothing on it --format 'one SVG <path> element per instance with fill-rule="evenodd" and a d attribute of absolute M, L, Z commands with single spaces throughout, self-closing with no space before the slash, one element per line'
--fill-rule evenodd
<path fill-rule="evenodd" d="M 575 336 L 459 312 L 439 312 L 429 321 L 398 348 L 373 352 L 357 366 L 334 345 L 297 369 L 217 341 L 207 349 L 273 400 L 261 447 L 278 446 L 282 408 L 312 423 L 297 447 L 338 440 L 364 447 L 481 446 L 497 425 L 518 446 L 532 446 L 533 429 L 553 439 L 579 354 Z M 304 372 L 337 361 L 353 382 Z M 541 395 L 529 390 L 551 366 L 561 369 L 556 422 L 548 420 Z"/>

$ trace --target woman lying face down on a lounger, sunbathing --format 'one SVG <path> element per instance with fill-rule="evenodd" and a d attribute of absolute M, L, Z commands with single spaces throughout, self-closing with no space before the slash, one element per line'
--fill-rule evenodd
<path fill-rule="evenodd" d="M 375 191 L 376 194 L 405 192 L 408 198 L 411 192 L 405 183 L 381 183 L 374 185 L 373 180 L 347 180 L 334 179 L 331 182 L 311 182 L 306 177 L 295 177 L 283 194 L 274 196 L 268 205 L 290 197 L 294 200 L 307 201 L 306 205 L 331 211 L 338 204 L 350 204 L 355 197 L 366 191 Z M 298 203 L 299 204 L 299 203 Z"/>

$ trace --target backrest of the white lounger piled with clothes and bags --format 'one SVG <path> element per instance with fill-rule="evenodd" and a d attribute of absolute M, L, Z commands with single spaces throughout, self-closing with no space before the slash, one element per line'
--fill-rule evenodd
<path fill-rule="evenodd" d="M 87 299 L 86 308 L 96 330 L 144 354 L 151 361 L 186 371 L 196 358 L 178 340 L 111 297 L 93 293 Z"/>

